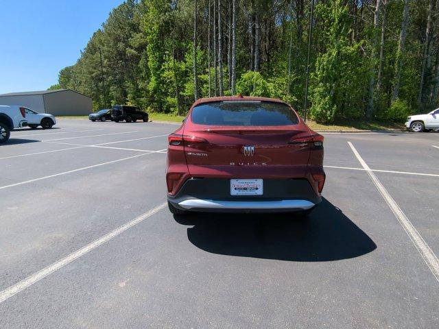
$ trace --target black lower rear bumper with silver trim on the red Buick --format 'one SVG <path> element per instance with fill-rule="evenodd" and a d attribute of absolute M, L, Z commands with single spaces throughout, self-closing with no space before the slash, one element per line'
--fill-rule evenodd
<path fill-rule="evenodd" d="M 282 212 L 308 210 L 322 201 L 309 181 L 303 179 L 264 180 L 263 195 L 230 195 L 230 179 L 192 178 L 177 195 L 168 195 L 176 208 L 214 212 Z"/>

